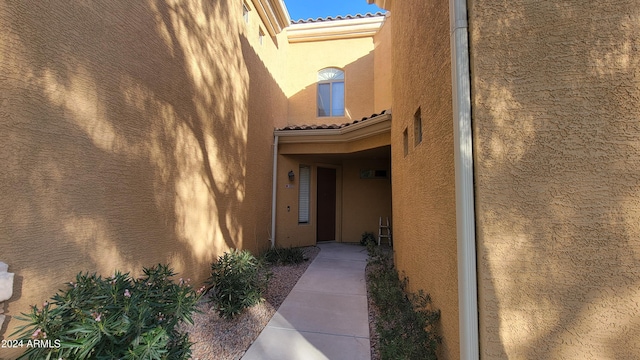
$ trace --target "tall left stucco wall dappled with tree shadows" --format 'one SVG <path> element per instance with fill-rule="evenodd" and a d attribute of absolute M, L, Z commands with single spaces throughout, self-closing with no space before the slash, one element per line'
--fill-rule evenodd
<path fill-rule="evenodd" d="M 199 281 L 228 248 L 268 246 L 287 103 L 241 4 L 0 4 L 8 315 L 80 271 L 170 262 Z"/>

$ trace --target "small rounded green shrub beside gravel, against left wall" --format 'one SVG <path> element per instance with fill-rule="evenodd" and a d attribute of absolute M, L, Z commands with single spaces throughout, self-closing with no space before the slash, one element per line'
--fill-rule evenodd
<path fill-rule="evenodd" d="M 211 264 L 210 300 L 220 316 L 233 318 L 262 301 L 270 273 L 247 250 L 231 250 Z"/>

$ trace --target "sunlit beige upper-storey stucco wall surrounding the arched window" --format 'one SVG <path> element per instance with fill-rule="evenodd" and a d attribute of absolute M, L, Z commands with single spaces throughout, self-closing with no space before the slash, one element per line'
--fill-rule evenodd
<path fill-rule="evenodd" d="M 287 78 L 289 124 L 341 124 L 371 116 L 374 110 L 373 38 L 289 44 Z M 317 117 L 318 71 L 337 67 L 345 73 L 345 116 Z"/>

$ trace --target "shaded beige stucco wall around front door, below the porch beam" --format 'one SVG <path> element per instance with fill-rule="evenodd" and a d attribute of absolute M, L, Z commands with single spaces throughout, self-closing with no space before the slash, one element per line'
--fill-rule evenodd
<path fill-rule="evenodd" d="M 278 156 L 276 245 L 316 244 L 317 168 L 336 169 L 336 241 L 359 242 L 363 232 L 378 232 L 380 216 L 391 217 L 389 179 L 360 179 L 360 170 L 387 170 L 389 148 L 348 154 L 298 154 Z M 310 222 L 298 224 L 299 168 L 311 168 Z M 287 174 L 293 170 L 294 181 Z"/>

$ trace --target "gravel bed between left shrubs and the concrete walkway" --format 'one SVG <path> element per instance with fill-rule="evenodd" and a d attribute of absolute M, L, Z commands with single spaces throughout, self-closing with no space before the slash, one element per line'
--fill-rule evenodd
<path fill-rule="evenodd" d="M 191 342 L 194 343 L 191 348 L 192 358 L 240 359 L 319 252 L 318 247 L 308 247 L 305 248 L 305 254 L 309 261 L 298 265 L 272 266 L 273 277 L 264 294 L 265 301 L 246 309 L 232 320 L 221 318 L 206 299 L 201 300 L 198 305 L 201 312 L 194 314 L 194 324 L 184 326 Z"/>

